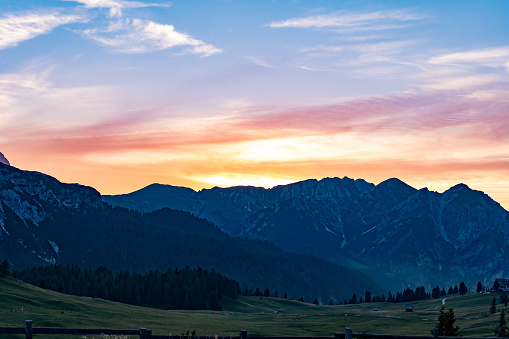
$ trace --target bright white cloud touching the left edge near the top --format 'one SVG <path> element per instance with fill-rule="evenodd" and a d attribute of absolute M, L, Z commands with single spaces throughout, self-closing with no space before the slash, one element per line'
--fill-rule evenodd
<path fill-rule="evenodd" d="M 85 21 L 79 14 L 28 13 L 10 14 L 0 18 L 0 49 L 17 46 L 20 42 L 47 34 L 56 27 Z"/>

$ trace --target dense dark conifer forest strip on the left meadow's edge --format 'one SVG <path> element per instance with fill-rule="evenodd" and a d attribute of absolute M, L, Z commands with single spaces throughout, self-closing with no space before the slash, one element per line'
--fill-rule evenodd
<path fill-rule="evenodd" d="M 57 264 L 14 271 L 13 276 L 65 294 L 161 309 L 221 310 L 224 296 L 236 298 L 240 292 L 237 281 L 199 267 L 139 274 Z"/>

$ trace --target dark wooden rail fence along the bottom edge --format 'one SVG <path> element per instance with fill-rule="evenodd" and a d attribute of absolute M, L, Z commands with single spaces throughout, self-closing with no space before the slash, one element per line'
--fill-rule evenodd
<path fill-rule="evenodd" d="M 25 327 L 0 327 L 0 334 L 24 334 L 25 339 L 33 339 L 34 334 L 75 334 L 75 335 L 130 335 L 139 336 L 140 339 L 247 339 L 247 331 L 241 330 L 238 337 L 204 337 L 204 336 L 165 336 L 153 335 L 151 330 L 141 327 L 139 330 L 112 330 L 90 328 L 47 328 L 32 327 L 32 320 L 25 321 Z M 249 339 L 509 339 L 509 337 L 443 337 L 438 336 L 438 330 L 433 329 L 433 335 L 390 335 L 353 333 L 351 328 L 346 327 L 344 333 L 335 333 L 334 337 L 254 337 Z"/>

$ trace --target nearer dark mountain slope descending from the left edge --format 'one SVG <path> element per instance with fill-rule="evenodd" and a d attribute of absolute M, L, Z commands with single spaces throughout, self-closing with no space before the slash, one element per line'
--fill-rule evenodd
<path fill-rule="evenodd" d="M 356 270 L 258 239 L 229 236 L 205 219 L 168 208 L 111 207 L 95 189 L 0 163 L 0 259 L 15 268 L 75 264 L 145 273 L 214 269 L 241 286 L 323 302 L 383 292 Z"/>

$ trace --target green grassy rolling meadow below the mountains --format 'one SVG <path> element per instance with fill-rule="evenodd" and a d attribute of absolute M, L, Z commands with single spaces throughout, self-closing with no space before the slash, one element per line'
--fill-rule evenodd
<path fill-rule="evenodd" d="M 453 308 L 462 336 L 493 336 L 499 314 L 489 315 L 493 296 L 467 293 L 446 299 Z M 434 327 L 441 299 L 405 304 L 370 303 L 319 306 L 277 298 L 239 297 L 223 302 L 224 311 L 163 311 L 101 299 L 75 297 L 43 290 L 14 279 L 0 279 L 0 326 L 138 329 L 153 334 L 181 335 L 196 331 L 203 336 L 238 336 L 247 330 L 256 336 L 333 336 L 351 327 L 354 332 L 428 335 Z M 378 311 L 372 309 L 377 307 Z M 502 308 L 497 304 L 497 308 Z M 23 309 L 23 311 L 21 311 Z M 279 314 L 274 311 L 278 310 Z M 2 338 L 23 338 L 4 335 Z M 35 336 L 57 338 L 58 336 Z M 70 338 L 69 336 L 64 338 Z M 89 336 L 90 339 L 93 336 Z M 97 336 L 96 336 L 97 337 Z M 80 337 L 83 338 L 83 337 Z"/>

